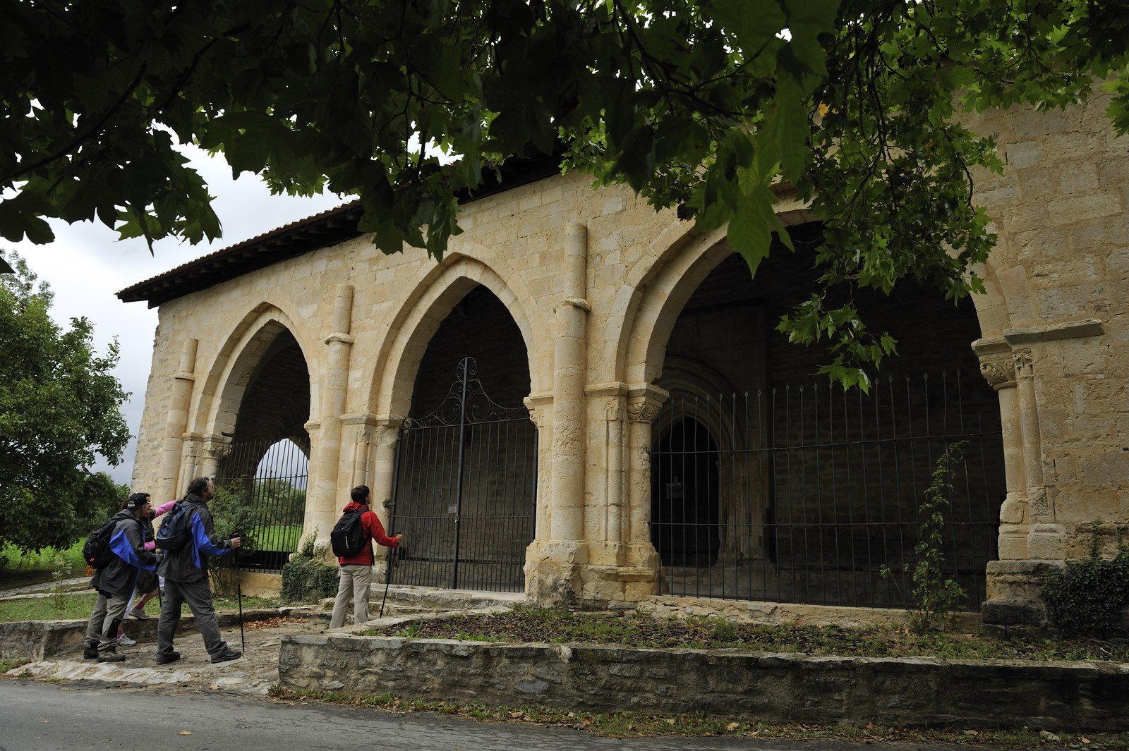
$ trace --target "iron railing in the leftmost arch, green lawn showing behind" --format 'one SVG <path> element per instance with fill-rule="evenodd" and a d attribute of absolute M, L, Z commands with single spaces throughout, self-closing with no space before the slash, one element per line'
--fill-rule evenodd
<path fill-rule="evenodd" d="M 292 441 L 234 443 L 216 472 L 217 488 L 251 506 L 254 550 L 239 555 L 240 568 L 281 571 L 298 549 L 306 515 L 309 459 Z"/>

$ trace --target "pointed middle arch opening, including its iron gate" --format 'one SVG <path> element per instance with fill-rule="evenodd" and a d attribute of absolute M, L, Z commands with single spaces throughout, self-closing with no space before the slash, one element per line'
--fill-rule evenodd
<path fill-rule="evenodd" d="M 401 430 L 390 527 L 401 584 L 522 591 L 536 511 L 525 342 L 485 286 L 428 343 Z"/>

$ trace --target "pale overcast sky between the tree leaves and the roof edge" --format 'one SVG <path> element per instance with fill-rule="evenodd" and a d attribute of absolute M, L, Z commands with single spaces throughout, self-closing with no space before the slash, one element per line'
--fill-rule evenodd
<path fill-rule="evenodd" d="M 191 149 L 185 151 L 192 154 Z M 210 159 L 199 151 L 195 154 L 193 165 L 216 196 L 212 206 L 224 227 L 224 237 L 211 245 L 191 246 L 166 239 L 155 244 L 150 255 L 145 240 L 120 241 L 104 224 L 90 222 L 52 223 L 55 241 L 51 245 L 36 246 L 26 241 L 3 245 L 6 250 L 15 249 L 32 271 L 51 285 L 55 293 L 51 313 L 56 321 L 69 326 L 72 317 L 80 316 L 93 321 L 95 348 L 99 355 L 105 354 L 114 337 L 121 343 L 116 376 L 124 389 L 132 392 L 122 406 L 132 439 L 121 465 L 110 467 L 102 460 L 95 469 L 105 470 L 115 481 L 126 485 L 133 475 L 157 311 L 145 302 L 124 303 L 116 293 L 194 258 L 344 203 L 333 195 L 272 196 L 257 177 L 243 175 L 233 180 L 231 170 L 221 159 Z"/>

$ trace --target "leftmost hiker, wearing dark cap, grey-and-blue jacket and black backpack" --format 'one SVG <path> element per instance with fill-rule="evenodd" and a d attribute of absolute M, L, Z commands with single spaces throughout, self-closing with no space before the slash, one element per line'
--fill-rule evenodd
<path fill-rule="evenodd" d="M 125 618 L 125 608 L 133 597 L 138 573 L 152 571 L 158 562 L 156 555 L 145 549 L 145 534 L 140 516 L 145 503 L 130 498 L 125 507 L 114 514 L 116 524 L 110 536 L 110 549 L 114 556 L 110 564 L 94 572 L 90 586 L 98 592 L 94 612 L 86 624 L 86 639 L 82 656 L 98 662 L 121 662 L 125 655 L 117 654 L 117 627 Z"/>

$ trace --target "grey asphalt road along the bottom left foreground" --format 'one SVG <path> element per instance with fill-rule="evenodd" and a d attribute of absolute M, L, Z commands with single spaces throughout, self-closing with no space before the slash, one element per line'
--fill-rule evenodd
<path fill-rule="evenodd" d="M 564 727 L 484 723 L 222 693 L 0 680 L 0 751 L 859 751 L 857 743 L 747 737 L 599 739 Z M 883 744 L 884 751 L 966 746 Z"/>

